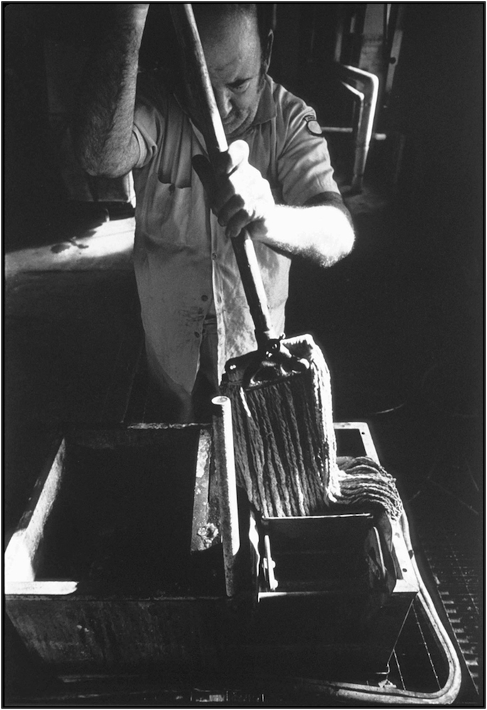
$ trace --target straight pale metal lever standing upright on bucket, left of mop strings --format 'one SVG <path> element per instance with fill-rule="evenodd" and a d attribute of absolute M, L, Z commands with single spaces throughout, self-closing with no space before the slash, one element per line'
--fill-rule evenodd
<path fill-rule="evenodd" d="M 239 552 L 239 509 L 236 500 L 234 434 L 231 425 L 231 403 L 228 397 L 214 397 L 214 460 L 220 490 L 220 527 L 225 566 L 227 596 L 236 593 L 235 559 Z"/>

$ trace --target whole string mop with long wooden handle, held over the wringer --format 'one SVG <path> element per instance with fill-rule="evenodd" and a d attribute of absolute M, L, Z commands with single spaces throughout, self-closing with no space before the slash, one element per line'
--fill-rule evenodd
<path fill-rule="evenodd" d="M 210 162 L 228 150 L 199 34 L 189 4 L 173 4 L 173 22 L 187 67 Z M 255 325 L 258 349 L 226 364 L 221 393 L 231 400 L 237 483 L 264 516 L 324 512 L 331 503 L 382 506 L 399 518 L 394 481 L 375 461 L 336 463 L 329 370 L 310 335 L 278 337 L 253 242 L 246 230 L 232 239 Z"/>

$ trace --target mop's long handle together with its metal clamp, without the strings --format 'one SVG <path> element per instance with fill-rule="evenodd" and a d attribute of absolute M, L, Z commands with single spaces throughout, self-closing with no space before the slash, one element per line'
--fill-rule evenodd
<path fill-rule="evenodd" d="M 228 151 L 223 124 L 214 99 L 212 84 L 190 3 L 171 4 L 171 15 L 184 53 L 187 71 L 192 77 L 189 92 L 198 111 L 198 120 L 208 157 L 214 163 L 217 155 Z M 258 266 L 256 251 L 248 231 L 234 237 L 232 246 L 251 312 L 258 349 L 226 364 L 226 377 L 244 387 L 258 386 L 261 381 L 275 381 L 307 370 L 309 364 L 288 351 L 283 336 L 275 333 L 270 320 L 266 290 Z"/>

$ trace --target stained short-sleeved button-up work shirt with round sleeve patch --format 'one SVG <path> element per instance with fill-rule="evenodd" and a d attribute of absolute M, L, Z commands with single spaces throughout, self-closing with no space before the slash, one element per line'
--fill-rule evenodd
<path fill-rule="evenodd" d="M 339 192 L 316 126 L 313 109 L 266 77 L 256 118 L 242 138 L 276 203 L 301 206 L 322 192 Z M 253 322 L 231 241 L 192 169 L 192 157 L 206 155 L 201 133 L 157 84 L 139 92 L 133 130 L 140 147 L 133 170 L 134 262 L 144 329 L 165 373 L 191 391 L 210 308 L 217 316 L 219 376 L 230 358 L 256 349 Z M 270 317 L 281 334 L 290 257 L 255 246 Z"/>

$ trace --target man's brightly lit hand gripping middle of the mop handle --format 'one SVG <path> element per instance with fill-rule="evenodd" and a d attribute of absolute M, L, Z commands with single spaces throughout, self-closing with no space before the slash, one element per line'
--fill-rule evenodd
<path fill-rule="evenodd" d="M 226 236 L 238 236 L 246 227 L 252 239 L 267 241 L 268 219 L 275 203 L 268 181 L 248 163 L 246 141 L 231 143 L 214 169 L 203 155 L 195 155 L 193 167 L 219 224 L 226 227 Z"/>

